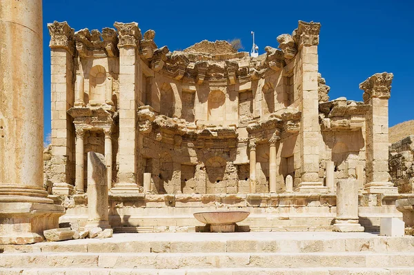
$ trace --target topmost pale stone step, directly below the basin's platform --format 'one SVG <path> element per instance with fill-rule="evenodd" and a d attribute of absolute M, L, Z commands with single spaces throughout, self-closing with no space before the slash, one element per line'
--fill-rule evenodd
<path fill-rule="evenodd" d="M 114 234 L 107 239 L 72 240 L 34 245 L 3 245 L 0 252 L 414 252 L 414 237 L 367 233 L 248 232 Z"/>

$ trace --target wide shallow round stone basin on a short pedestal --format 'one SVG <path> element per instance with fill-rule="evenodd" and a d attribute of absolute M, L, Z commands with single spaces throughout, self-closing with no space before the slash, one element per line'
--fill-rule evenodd
<path fill-rule="evenodd" d="M 210 232 L 235 232 L 236 223 L 243 221 L 249 214 L 247 211 L 213 211 L 194 213 L 194 217 L 210 225 Z"/>

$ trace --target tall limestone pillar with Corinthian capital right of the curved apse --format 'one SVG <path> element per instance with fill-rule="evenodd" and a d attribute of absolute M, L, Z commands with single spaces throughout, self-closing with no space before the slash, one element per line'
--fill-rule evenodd
<path fill-rule="evenodd" d="M 328 192 L 319 179 L 319 142 L 321 130 L 319 126 L 318 96 L 318 54 L 320 23 L 299 21 L 295 37 L 299 50 L 295 64 L 295 89 L 299 106 L 302 106 L 300 121 L 300 183 L 299 192 Z"/>

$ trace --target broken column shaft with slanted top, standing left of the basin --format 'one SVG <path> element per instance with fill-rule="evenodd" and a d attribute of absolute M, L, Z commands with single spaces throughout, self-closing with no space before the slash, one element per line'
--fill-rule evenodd
<path fill-rule="evenodd" d="M 92 227 L 110 228 L 108 222 L 108 182 L 105 156 L 88 152 L 88 222 L 85 230 Z"/>

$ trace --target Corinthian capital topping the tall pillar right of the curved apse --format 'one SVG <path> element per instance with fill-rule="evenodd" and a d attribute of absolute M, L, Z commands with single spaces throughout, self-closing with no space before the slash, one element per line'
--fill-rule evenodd
<path fill-rule="evenodd" d="M 304 45 L 317 45 L 319 44 L 319 30 L 321 30 L 321 23 L 311 23 L 300 21 L 297 29 L 293 31 L 293 37 L 299 48 Z"/>

